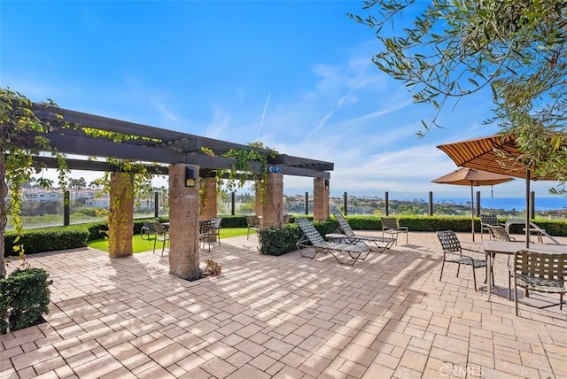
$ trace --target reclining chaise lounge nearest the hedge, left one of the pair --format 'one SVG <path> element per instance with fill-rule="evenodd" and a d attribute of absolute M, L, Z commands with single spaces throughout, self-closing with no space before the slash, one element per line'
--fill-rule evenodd
<path fill-rule="evenodd" d="M 319 231 L 315 229 L 311 221 L 307 219 L 297 219 L 295 220 L 295 222 L 299 225 L 299 228 L 301 228 L 301 231 L 303 232 L 303 236 L 301 236 L 296 244 L 299 250 L 299 254 L 301 254 L 302 257 L 314 259 L 315 255 L 317 255 L 317 253 L 319 252 L 322 252 L 324 254 L 330 253 L 330 255 L 337 259 L 338 263 L 346 264 L 344 262 L 341 262 L 337 257 L 338 253 L 346 252 L 350 256 L 350 258 L 353 259 L 353 262 L 350 264 L 351 266 L 353 266 L 353 264 L 356 263 L 358 259 L 364 260 L 369 255 L 370 248 L 362 242 L 357 242 L 356 244 L 339 244 L 336 242 L 328 242 L 323 239 L 323 237 L 321 236 Z M 312 255 L 306 255 L 301 252 L 302 247 L 313 247 L 315 253 Z"/>

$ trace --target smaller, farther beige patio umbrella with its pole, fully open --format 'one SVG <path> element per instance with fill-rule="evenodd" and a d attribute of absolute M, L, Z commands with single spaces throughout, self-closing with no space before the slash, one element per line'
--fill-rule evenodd
<path fill-rule="evenodd" d="M 470 230 L 472 233 L 472 240 L 475 240 L 475 211 L 474 211 L 474 194 L 473 187 L 477 186 L 492 186 L 503 182 L 513 181 L 514 178 L 503 175 L 488 173 L 486 171 L 478 170 L 476 168 L 462 167 L 452 173 L 443 175 L 431 182 L 439 184 L 454 184 L 460 186 L 470 186 Z"/>

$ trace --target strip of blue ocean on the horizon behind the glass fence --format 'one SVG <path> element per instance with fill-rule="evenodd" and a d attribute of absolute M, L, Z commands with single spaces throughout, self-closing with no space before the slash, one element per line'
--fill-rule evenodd
<path fill-rule="evenodd" d="M 427 201 L 427 199 L 423 199 Z M 476 201 L 476 197 L 475 197 Z M 453 203 L 460 205 L 470 204 L 470 197 L 451 197 L 451 198 L 435 198 L 433 203 Z M 555 211 L 567 209 L 567 197 L 536 197 L 535 198 L 536 211 Z M 524 197 L 480 197 L 480 207 L 490 209 L 503 209 L 504 211 L 524 211 L 525 198 Z"/>

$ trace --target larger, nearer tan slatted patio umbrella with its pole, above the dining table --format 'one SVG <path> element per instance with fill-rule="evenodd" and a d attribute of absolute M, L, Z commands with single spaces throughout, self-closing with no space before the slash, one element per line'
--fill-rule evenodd
<path fill-rule="evenodd" d="M 490 135 L 437 147 L 445 151 L 457 166 L 525 179 L 525 247 L 530 247 L 530 180 L 553 181 L 555 177 L 531 177 L 533 167 L 525 162 L 513 135 Z"/>

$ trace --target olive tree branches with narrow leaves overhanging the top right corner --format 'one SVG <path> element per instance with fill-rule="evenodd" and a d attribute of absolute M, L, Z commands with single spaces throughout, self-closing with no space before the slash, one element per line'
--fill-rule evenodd
<path fill-rule="evenodd" d="M 375 30 L 376 66 L 403 81 L 416 103 L 436 109 L 418 135 L 439 126 L 444 106 L 488 90 L 494 105 L 486 122 L 515 135 L 540 174 L 565 182 L 567 3 L 369 0 L 362 12 L 349 17 Z"/>

